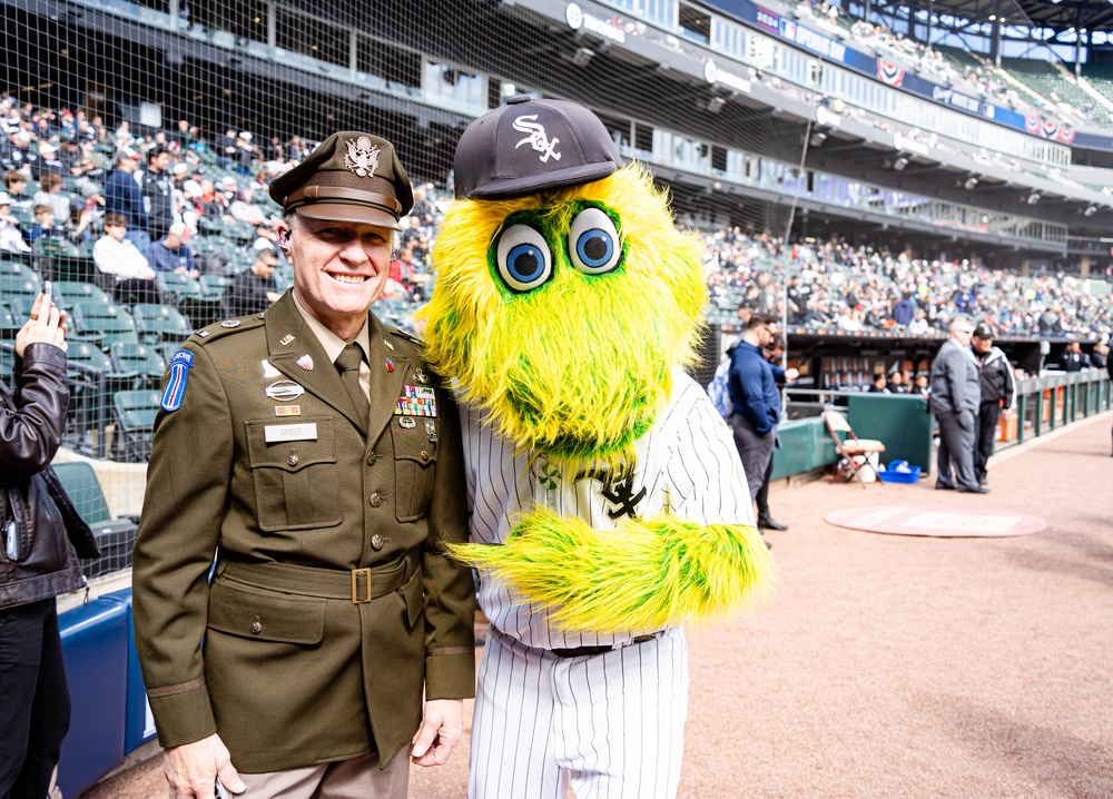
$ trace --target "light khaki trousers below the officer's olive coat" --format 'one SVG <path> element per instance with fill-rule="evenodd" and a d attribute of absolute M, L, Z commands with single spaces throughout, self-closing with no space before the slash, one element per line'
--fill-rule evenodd
<path fill-rule="evenodd" d="M 406 799 L 410 749 L 395 754 L 385 770 L 378 768 L 378 753 L 372 752 L 334 763 L 239 777 L 247 785 L 238 795 L 244 799 Z"/>

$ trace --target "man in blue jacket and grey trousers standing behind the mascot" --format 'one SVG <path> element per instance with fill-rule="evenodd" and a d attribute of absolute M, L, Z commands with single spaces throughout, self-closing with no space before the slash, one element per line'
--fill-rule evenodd
<path fill-rule="evenodd" d="M 752 314 L 730 358 L 727 386 L 730 401 L 735 404 L 730 426 L 746 471 L 750 500 L 755 500 L 761 489 L 777 442 L 777 422 L 780 421 L 780 403 L 771 401 L 779 396 L 777 384 L 762 353 L 762 347 L 771 345 L 776 337 L 776 324 L 771 316 Z"/>

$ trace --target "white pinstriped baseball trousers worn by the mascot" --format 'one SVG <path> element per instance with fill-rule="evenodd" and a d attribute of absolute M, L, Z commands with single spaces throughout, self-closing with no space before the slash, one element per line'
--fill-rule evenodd
<path fill-rule="evenodd" d="M 671 799 L 688 716 L 681 628 L 558 658 L 493 627 L 472 720 L 470 799 Z"/>

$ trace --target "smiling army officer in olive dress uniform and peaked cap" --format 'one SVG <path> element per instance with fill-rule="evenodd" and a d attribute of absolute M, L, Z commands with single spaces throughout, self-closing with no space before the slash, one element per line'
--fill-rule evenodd
<path fill-rule="evenodd" d="M 411 742 L 444 762 L 475 679 L 471 572 L 441 546 L 467 540 L 456 408 L 368 313 L 413 195 L 388 141 L 342 132 L 270 196 L 293 289 L 167 371 L 135 549 L 144 681 L 171 797 L 216 778 L 404 797 Z"/>

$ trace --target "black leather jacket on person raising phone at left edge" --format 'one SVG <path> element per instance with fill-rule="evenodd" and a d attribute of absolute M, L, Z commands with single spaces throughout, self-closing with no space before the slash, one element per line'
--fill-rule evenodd
<path fill-rule="evenodd" d="M 29 344 L 14 377 L 14 393 L 0 384 L 0 609 L 85 586 L 68 533 L 78 536 L 83 555 L 96 551 L 88 526 L 49 470 L 69 407 L 66 353 Z M 68 531 L 67 522 L 77 530 Z"/>

